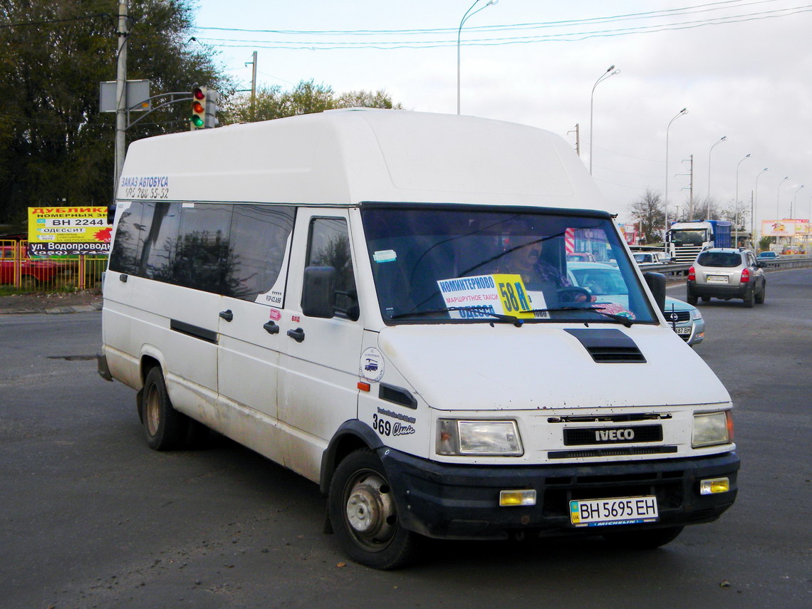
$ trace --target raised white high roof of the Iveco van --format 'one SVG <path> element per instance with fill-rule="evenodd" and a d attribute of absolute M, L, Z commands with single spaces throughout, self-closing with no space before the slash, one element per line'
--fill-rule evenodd
<path fill-rule="evenodd" d="M 551 132 L 405 110 L 328 110 L 137 140 L 120 184 L 125 201 L 414 201 L 614 211 L 572 147 Z"/>

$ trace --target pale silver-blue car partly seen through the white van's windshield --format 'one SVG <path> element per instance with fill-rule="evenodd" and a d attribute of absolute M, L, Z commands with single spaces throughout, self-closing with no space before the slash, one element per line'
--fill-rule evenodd
<path fill-rule="evenodd" d="M 569 262 L 567 268 L 572 285 L 585 287 L 598 302 L 601 300 L 623 302 L 625 284 L 620 270 L 614 266 L 593 262 Z M 705 320 L 702 319 L 699 309 L 692 304 L 666 296 L 664 315 L 676 334 L 690 346 L 701 343 L 705 338 Z"/>

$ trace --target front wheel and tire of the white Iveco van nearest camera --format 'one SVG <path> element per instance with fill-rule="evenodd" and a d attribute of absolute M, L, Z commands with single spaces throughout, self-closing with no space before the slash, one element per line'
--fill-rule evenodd
<path fill-rule="evenodd" d="M 387 474 L 373 451 L 361 449 L 341 461 L 327 509 L 340 546 L 356 563 L 387 570 L 413 558 L 417 534 L 400 526 Z"/>

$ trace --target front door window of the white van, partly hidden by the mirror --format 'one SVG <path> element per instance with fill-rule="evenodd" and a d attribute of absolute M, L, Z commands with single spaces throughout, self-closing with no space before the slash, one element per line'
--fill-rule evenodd
<path fill-rule="evenodd" d="M 332 266 L 335 269 L 335 312 L 356 321 L 360 311 L 346 220 L 313 218 L 306 266 Z"/>

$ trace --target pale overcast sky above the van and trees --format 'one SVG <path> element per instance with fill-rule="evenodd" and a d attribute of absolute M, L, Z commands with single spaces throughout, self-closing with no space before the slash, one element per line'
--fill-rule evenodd
<path fill-rule="evenodd" d="M 259 86 L 384 89 L 408 110 L 454 114 L 457 32 L 472 2 L 198 0 L 197 37 L 244 89 L 256 50 Z M 621 220 L 666 180 L 669 216 L 681 215 L 691 155 L 695 201 L 710 192 L 732 205 L 738 188 L 743 205 L 756 197 L 758 220 L 790 218 L 791 205 L 793 218 L 810 217 L 812 3 L 486 2 L 461 33 L 462 113 L 542 127 L 573 148 L 579 124 L 589 167 L 594 100 L 593 175 Z M 613 64 L 620 73 L 593 96 Z"/>

